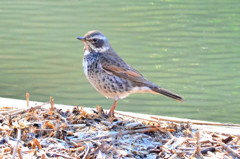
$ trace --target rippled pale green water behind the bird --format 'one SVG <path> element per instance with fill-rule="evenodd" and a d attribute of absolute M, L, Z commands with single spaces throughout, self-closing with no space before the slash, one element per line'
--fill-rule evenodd
<path fill-rule="evenodd" d="M 83 45 L 103 32 L 150 81 L 185 98 L 133 94 L 117 110 L 240 123 L 240 1 L 1 0 L 0 96 L 109 108 L 86 80 Z"/>

